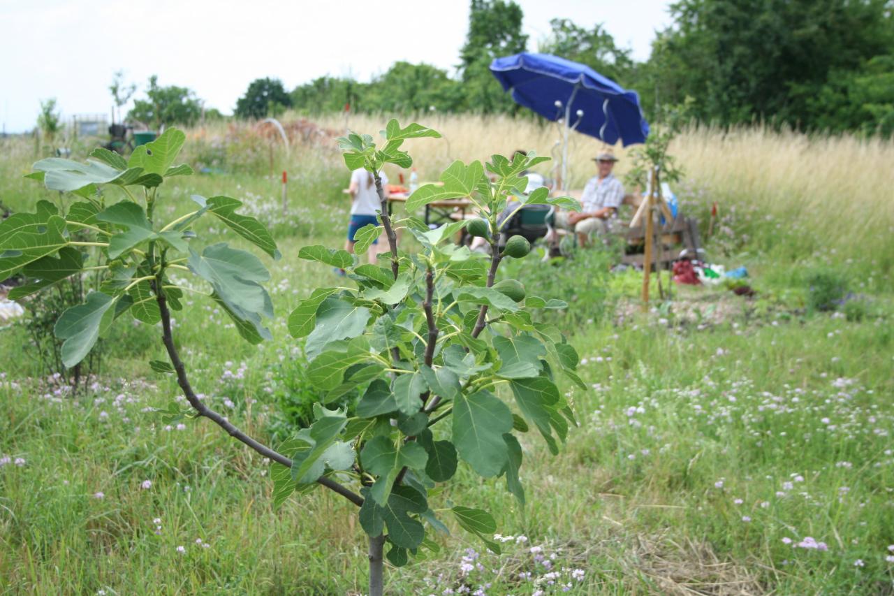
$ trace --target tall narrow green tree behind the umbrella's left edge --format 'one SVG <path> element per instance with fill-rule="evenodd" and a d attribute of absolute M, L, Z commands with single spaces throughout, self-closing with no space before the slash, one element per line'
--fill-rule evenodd
<path fill-rule="evenodd" d="M 460 50 L 460 78 L 469 111 L 490 114 L 517 109 L 493 78 L 490 65 L 493 58 L 525 51 L 523 16 L 519 4 L 512 0 L 472 0 L 468 35 Z"/>

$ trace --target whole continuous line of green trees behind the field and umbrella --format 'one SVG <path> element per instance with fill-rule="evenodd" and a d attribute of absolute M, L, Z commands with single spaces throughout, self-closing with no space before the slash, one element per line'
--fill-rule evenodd
<path fill-rule="evenodd" d="M 679 0 L 674 24 L 637 63 L 600 24 L 550 21 L 539 50 L 588 64 L 634 89 L 646 118 L 672 107 L 730 125 L 763 119 L 802 130 L 890 134 L 894 16 L 890 0 Z M 526 49 L 511 0 L 472 0 L 459 81 L 427 64 L 397 63 L 370 83 L 321 77 L 291 92 L 305 114 L 442 112 L 531 115 L 502 91 L 494 57 Z"/>

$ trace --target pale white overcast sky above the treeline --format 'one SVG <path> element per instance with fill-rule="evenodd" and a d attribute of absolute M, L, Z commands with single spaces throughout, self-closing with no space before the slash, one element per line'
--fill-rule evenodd
<path fill-rule="evenodd" d="M 528 50 L 552 18 L 602 22 L 638 60 L 654 31 L 671 23 L 667 0 L 516 0 Z M 0 0 L 0 125 L 30 130 L 39 101 L 56 98 L 63 118 L 108 114 L 108 86 L 124 70 L 143 97 L 160 85 L 193 89 L 224 114 L 249 82 L 271 76 L 291 90 L 325 74 L 368 81 L 398 60 L 448 69 L 459 62 L 468 0 Z M 153 37 L 155 34 L 156 37 Z M 623 84 L 623 81 L 620 81 Z"/>

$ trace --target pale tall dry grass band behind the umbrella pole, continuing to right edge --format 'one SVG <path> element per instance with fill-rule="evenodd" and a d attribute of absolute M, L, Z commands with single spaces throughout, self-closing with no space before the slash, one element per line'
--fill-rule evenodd
<path fill-rule="evenodd" d="M 387 115 L 327 116 L 319 123 L 377 137 Z M 409 140 L 406 147 L 422 179 L 432 179 L 454 159 L 486 159 L 493 153 L 534 149 L 554 159 L 539 169 L 550 175 L 558 165 L 561 128 L 527 118 L 480 115 L 419 115 L 414 120 L 443 134 L 443 140 Z M 410 118 L 401 118 L 401 123 Z M 580 188 L 595 174 L 591 158 L 609 149 L 602 141 L 573 133 L 569 145 L 569 183 Z M 628 149 L 616 174 L 628 172 Z M 687 188 L 701 189 L 701 201 L 720 203 L 721 212 L 748 214 L 748 230 L 766 245 L 780 243 L 789 256 L 835 250 L 872 255 L 885 270 L 894 267 L 894 142 L 849 135 L 805 135 L 765 126 L 723 130 L 693 125 L 671 145 Z M 395 172 L 389 172 L 393 175 Z M 699 214 L 706 216 L 707 210 Z M 739 223 L 743 223 L 742 220 Z M 743 223 L 744 226 L 744 223 Z"/>

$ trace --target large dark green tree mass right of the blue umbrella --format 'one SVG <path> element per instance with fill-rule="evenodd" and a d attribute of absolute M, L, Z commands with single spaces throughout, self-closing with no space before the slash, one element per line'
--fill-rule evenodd
<path fill-rule="evenodd" d="M 654 46 L 662 103 L 696 101 L 700 120 L 817 125 L 809 105 L 833 72 L 854 72 L 894 44 L 886 0 L 680 0 Z"/>

